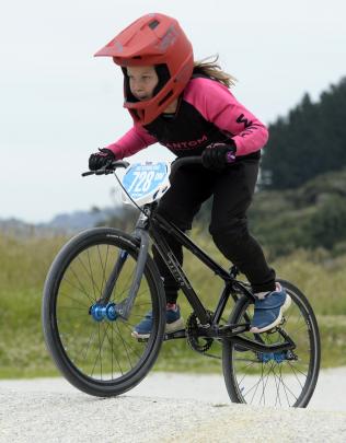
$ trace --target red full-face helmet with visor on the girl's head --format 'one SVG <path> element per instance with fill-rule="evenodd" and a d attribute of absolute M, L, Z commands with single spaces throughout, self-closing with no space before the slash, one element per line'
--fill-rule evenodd
<path fill-rule="evenodd" d="M 102 56 L 123 68 L 124 107 L 138 125 L 155 119 L 182 93 L 194 69 L 193 47 L 178 22 L 159 13 L 136 20 L 95 54 Z M 126 67 L 134 66 L 155 67 L 159 84 L 148 101 L 131 94 Z"/>

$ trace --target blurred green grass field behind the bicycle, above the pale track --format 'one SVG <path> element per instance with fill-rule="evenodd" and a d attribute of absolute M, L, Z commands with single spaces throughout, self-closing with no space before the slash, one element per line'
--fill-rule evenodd
<path fill-rule="evenodd" d="M 198 231 L 193 233 L 201 247 L 217 260 L 227 260 Z M 65 237 L 0 238 L 0 377 L 57 375 L 42 335 L 41 303 L 45 276 Z M 272 264 L 278 276 L 295 282 L 307 294 L 319 319 L 322 337 L 322 366 L 346 364 L 346 255 L 333 257 L 324 250 L 298 250 Z M 189 254 L 185 267 L 204 303 L 215 308 L 221 282 Z M 191 307 L 180 298 L 185 319 Z M 229 306 L 229 312 L 231 306 Z M 215 343 L 210 353 L 220 357 Z M 203 358 L 185 340 L 163 343 L 157 371 L 220 373 L 220 360 Z"/>

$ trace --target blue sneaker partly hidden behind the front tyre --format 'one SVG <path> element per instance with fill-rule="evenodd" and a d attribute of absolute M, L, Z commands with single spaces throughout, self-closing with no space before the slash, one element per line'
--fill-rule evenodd
<path fill-rule="evenodd" d="M 152 312 L 146 314 L 145 318 L 135 326 L 131 336 L 135 338 L 148 338 L 152 328 Z M 181 316 L 181 308 L 177 304 L 168 304 L 165 312 L 165 331 L 175 333 L 184 329 L 184 319 Z"/>

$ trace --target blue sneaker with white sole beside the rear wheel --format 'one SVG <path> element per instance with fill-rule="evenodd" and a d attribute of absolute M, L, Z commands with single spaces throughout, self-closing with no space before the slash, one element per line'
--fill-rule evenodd
<path fill-rule="evenodd" d="M 264 299 L 256 298 L 250 331 L 261 334 L 279 325 L 282 314 L 289 308 L 290 304 L 291 298 L 277 283 L 276 291 L 269 292 Z"/>

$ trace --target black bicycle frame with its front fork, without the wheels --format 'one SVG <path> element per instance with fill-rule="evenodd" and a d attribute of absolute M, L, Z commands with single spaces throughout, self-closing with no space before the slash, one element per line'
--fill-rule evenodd
<path fill-rule="evenodd" d="M 231 339 L 234 343 L 251 349 L 255 352 L 280 352 L 286 350 L 292 350 L 296 348 L 291 338 L 282 330 L 278 331 L 284 337 L 285 341 L 281 343 L 265 345 L 261 339 L 261 335 L 256 335 L 256 341 L 250 340 L 244 337 L 240 337 L 239 334 L 249 331 L 250 325 L 234 324 L 219 326 L 219 320 L 226 307 L 226 304 L 230 298 L 233 298 L 234 302 L 238 301 L 237 292 L 241 295 L 246 295 L 250 300 L 254 300 L 254 295 L 246 288 L 245 284 L 235 279 L 237 272 L 233 275 L 230 271 L 223 269 L 212 258 L 210 258 L 203 249 L 200 249 L 183 231 L 181 231 L 174 223 L 165 220 L 163 217 L 154 212 L 154 203 L 146 205 L 143 213 L 140 214 L 136 224 L 134 237 L 139 244 L 139 254 L 137 257 L 137 266 L 135 270 L 135 278 L 132 280 L 131 288 L 128 296 L 116 305 L 117 313 L 123 318 L 128 318 L 135 298 L 137 295 L 140 281 L 142 278 L 147 256 L 149 253 L 149 236 L 153 240 L 153 243 L 161 255 L 163 261 L 170 269 L 172 276 L 178 283 L 180 288 L 184 292 L 187 301 L 194 310 L 197 318 L 200 322 L 203 333 L 201 337 L 210 337 L 217 339 Z M 198 295 L 194 291 L 192 284 L 188 281 L 185 272 L 182 269 L 178 260 L 176 259 L 172 248 L 169 246 L 164 238 L 164 233 L 173 235 L 186 249 L 194 254 L 205 266 L 211 269 L 217 276 L 224 281 L 224 289 L 220 295 L 218 305 L 215 310 L 214 316 L 210 318 L 206 308 L 201 304 Z M 119 275 L 122 267 L 126 260 L 126 256 L 122 253 L 108 277 L 104 292 L 100 302 L 107 303 L 109 301 L 112 291 L 116 284 L 117 276 Z M 245 318 L 246 319 L 246 318 Z"/>

